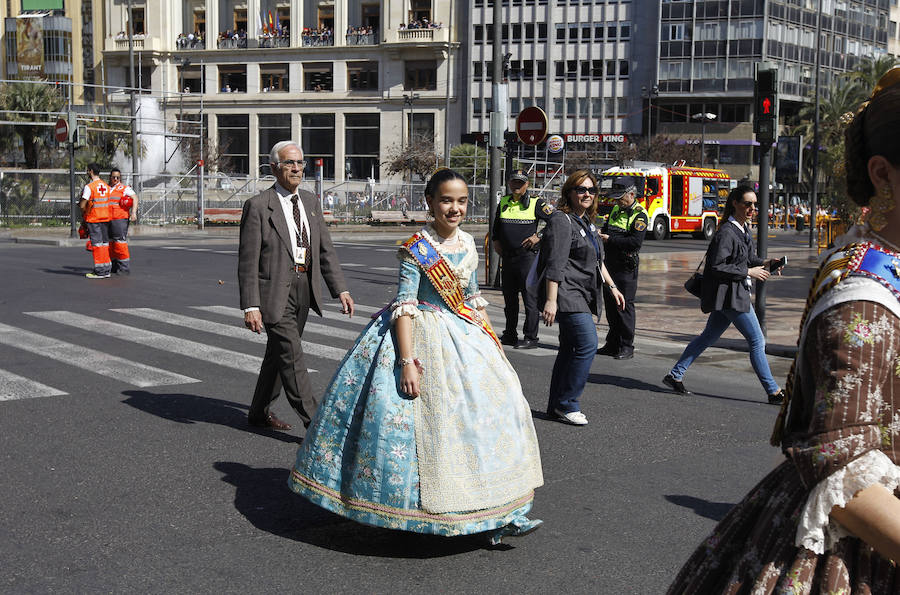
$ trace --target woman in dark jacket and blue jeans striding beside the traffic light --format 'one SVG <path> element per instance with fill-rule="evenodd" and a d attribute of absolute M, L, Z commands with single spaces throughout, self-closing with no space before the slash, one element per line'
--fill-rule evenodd
<path fill-rule="evenodd" d="M 685 347 L 672 371 L 663 378 L 663 383 L 675 392 L 690 394 L 682 382 L 688 367 L 734 324 L 750 346 L 750 363 L 769 403 L 777 405 L 784 399 L 784 392 L 769 370 L 766 338 L 750 303 L 750 280 L 768 279 L 768 267 L 776 262 L 756 256 L 749 230 L 756 208 L 756 193 L 749 186 L 738 186 L 729 193 L 719 230 L 706 250 L 700 297 L 700 309 L 709 312 L 706 328 Z"/>

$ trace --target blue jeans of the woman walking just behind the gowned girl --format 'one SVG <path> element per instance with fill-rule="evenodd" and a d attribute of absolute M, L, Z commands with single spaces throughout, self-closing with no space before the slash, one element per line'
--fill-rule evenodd
<path fill-rule="evenodd" d="M 590 312 L 559 312 L 559 351 L 553 363 L 547 412 L 581 411 L 578 400 L 597 353 L 597 327 Z"/>

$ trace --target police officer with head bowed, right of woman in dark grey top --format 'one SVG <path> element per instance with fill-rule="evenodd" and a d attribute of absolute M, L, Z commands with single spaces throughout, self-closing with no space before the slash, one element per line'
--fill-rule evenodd
<path fill-rule="evenodd" d="M 606 321 L 609 332 L 606 344 L 597 350 L 601 355 L 616 359 L 634 357 L 634 296 L 637 293 L 637 275 L 644 234 L 647 232 L 647 211 L 637 200 L 634 182 L 616 180 L 609 195 L 616 205 L 603 225 L 600 237 L 606 251 L 606 269 L 622 295 L 625 309 L 616 308 L 616 302 L 608 288 L 604 289 Z"/>

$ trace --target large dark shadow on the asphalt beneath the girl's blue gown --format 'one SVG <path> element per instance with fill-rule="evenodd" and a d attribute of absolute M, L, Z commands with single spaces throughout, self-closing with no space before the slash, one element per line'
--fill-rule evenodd
<path fill-rule="evenodd" d="M 256 469 L 229 461 L 219 461 L 213 467 L 224 474 L 222 481 L 235 487 L 235 509 L 257 529 L 279 537 L 383 558 L 439 558 L 486 548 L 483 535 L 440 537 L 349 521 L 291 492 L 287 469 Z"/>

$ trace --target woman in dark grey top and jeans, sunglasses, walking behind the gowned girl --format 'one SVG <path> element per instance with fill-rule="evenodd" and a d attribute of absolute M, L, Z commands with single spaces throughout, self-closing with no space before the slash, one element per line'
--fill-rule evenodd
<path fill-rule="evenodd" d="M 597 215 L 597 179 L 586 170 L 574 172 L 562 187 L 560 207 L 547 224 L 538 259 L 538 303 L 547 326 L 559 322 L 559 352 L 553 364 L 547 414 L 564 423 L 583 426 L 587 418 L 579 399 L 597 352 L 597 328 L 592 315 L 600 315 L 600 279 L 610 286 L 616 305 L 625 298 L 616 289 L 603 264 L 594 217 Z"/>

